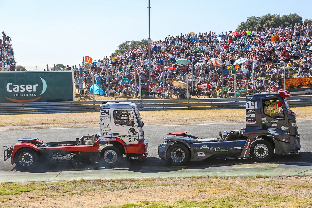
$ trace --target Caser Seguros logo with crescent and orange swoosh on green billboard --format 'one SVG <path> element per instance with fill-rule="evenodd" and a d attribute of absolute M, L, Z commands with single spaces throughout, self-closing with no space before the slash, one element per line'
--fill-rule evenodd
<path fill-rule="evenodd" d="M 46 91 L 46 81 L 42 78 L 39 77 L 42 81 L 42 91 L 39 95 L 42 95 L 45 91 Z M 12 82 L 7 83 L 6 85 L 6 89 L 9 93 L 14 93 L 14 97 L 37 97 L 38 96 L 38 92 L 37 92 L 37 88 L 38 88 L 38 84 L 34 84 L 34 85 L 30 85 L 30 84 L 22 84 L 22 85 L 17 85 L 17 84 L 13 84 Z M 12 99 L 12 98 L 8 98 L 7 99 L 16 102 L 16 103 L 29 103 L 29 102 L 34 102 L 37 99 L 41 98 L 37 97 L 37 98 L 33 98 L 33 99 Z"/>

